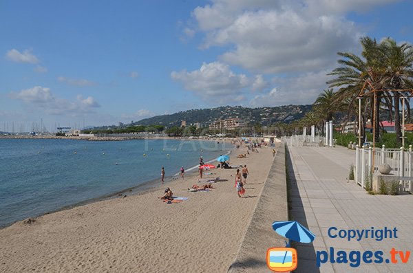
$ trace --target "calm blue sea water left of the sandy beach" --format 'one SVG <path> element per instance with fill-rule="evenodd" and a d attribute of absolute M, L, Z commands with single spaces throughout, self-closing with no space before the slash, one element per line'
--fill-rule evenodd
<path fill-rule="evenodd" d="M 232 149 L 208 141 L 0 139 L 0 226 L 151 182 Z M 156 180 L 155 180 L 156 179 Z"/>

